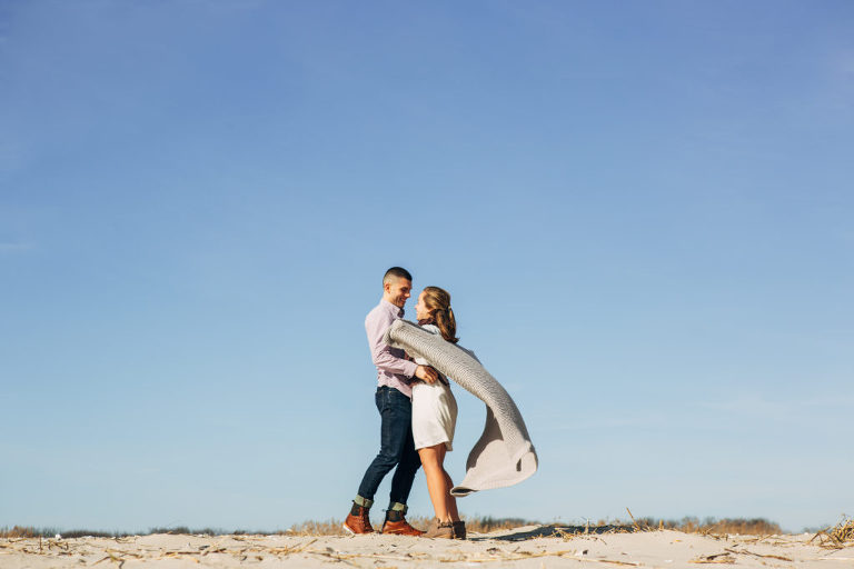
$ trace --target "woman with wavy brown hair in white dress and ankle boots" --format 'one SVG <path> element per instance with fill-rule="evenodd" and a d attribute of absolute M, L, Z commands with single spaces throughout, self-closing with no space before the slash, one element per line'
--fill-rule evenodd
<path fill-rule="evenodd" d="M 457 343 L 458 338 L 454 336 L 457 325 L 447 291 L 438 287 L 425 288 L 415 305 L 415 316 L 425 330 Z M 419 366 L 428 365 L 420 358 L 415 361 Z M 447 378 L 440 375 L 434 383 L 413 383 L 413 438 L 421 457 L 427 489 L 436 510 L 436 518 L 425 533 L 428 538 L 466 539 L 466 526 L 459 519 L 457 500 L 450 496 L 454 482 L 443 466 L 445 453 L 453 450 L 456 422 L 457 401 L 450 392 Z"/>

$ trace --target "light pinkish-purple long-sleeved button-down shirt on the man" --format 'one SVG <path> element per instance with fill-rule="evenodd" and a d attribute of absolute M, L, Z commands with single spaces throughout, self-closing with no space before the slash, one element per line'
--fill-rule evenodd
<path fill-rule="evenodd" d="M 377 385 L 393 387 L 411 398 L 413 388 L 409 382 L 418 366 L 404 359 L 404 350 L 391 348 L 383 341 L 391 322 L 403 316 L 403 308 L 383 299 L 365 318 L 365 331 L 368 332 L 370 358 L 377 367 Z"/>

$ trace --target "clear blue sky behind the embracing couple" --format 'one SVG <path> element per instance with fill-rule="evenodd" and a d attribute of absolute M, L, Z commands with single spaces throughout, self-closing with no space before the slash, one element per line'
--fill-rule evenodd
<path fill-rule="evenodd" d="M 464 513 L 854 513 L 852 30 L 846 0 L 0 0 L 0 526 L 342 518 L 393 264 L 539 453 Z"/>

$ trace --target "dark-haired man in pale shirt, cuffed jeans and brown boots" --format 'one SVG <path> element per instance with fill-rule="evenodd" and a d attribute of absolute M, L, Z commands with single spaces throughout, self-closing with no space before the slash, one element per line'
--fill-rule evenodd
<path fill-rule="evenodd" d="M 424 533 L 406 521 L 406 500 L 421 461 L 413 441 L 413 378 L 433 383 L 438 379 L 435 369 L 418 366 L 405 359 L 403 350 L 391 348 L 383 341 L 391 322 L 404 316 L 404 305 L 411 295 L 413 276 L 400 267 L 391 267 L 383 277 L 383 300 L 367 318 L 365 331 L 374 365 L 377 367 L 377 409 L 381 419 L 380 450 L 368 466 L 359 485 L 359 493 L 352 500 L 352 508 L 344 522 L 344 529 L 351 533 L 373 533 L 368 512 L 374 505 L 374 495 L 383 478 L 395 469 L 391 478 L 390 503 L 386 510 L 383 533 L 420 536 Z"/>

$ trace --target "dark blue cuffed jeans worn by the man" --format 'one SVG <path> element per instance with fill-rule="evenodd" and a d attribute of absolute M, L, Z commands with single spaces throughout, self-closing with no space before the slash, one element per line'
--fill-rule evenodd
<path fill-rule="evenodd" d="M 379 455 L 365 471 L 359 485 L 359 496 L 374 500 L 379 483 L 395 467 L 391 478 L 391 502 L 406 503 L 413 489 L 415 473 L 421 459 L 413 441 L 413 402 L 393 387 L 377 388 L 377 410 L 381 418 Z"/>

